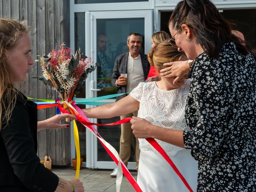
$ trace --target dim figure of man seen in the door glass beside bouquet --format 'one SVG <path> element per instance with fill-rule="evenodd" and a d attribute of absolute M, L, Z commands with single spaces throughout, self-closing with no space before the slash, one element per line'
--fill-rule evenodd
<path fill-rule="evenodd" d="M 105 54 L 108 48 L 108 36 L 104 33 L 99 34 L 97 38 L 97 80 L 98 88 L 102 89 L 98 96 L 102 96 L 111 86 L 112 61 Z"/>

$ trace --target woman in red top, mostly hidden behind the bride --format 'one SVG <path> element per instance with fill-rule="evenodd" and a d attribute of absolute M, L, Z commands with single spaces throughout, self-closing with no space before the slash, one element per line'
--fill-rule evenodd
<path fill-rule="evenodd" d="M 152 42 L 151 48 L 154 48 L 156 45 L 159 45 L 161 42 L 163 42 L 164 40 L 167 40 L 167 39 L 170 39 L 170 36 L 165 31 L 159 31 L 159 32 L 154 33 L 151 37 L 151 42 Z M 150 66 L 150 70 L 148 72 L 148 78 L 146 80 L 148 80 L 148 82 L 160 80 L 153 64 Z"/>

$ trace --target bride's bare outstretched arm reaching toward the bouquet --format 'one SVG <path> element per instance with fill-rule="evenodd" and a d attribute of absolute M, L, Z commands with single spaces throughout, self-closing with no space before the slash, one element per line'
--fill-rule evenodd
<path fill-rule="evenodd" d="M 115 103 L 82 110 L 88 118 L 112 118 L 134 112 L 139 106 L 140 102 L 128 95 Z"/>

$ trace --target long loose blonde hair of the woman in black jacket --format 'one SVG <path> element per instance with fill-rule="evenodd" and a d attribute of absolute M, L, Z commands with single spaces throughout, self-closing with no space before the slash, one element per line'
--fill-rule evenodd
<path fill-rule="evenodd" d="M 10 120 L 18 94 L 14 88 L 12 70 L 7 63 L 6 50 L 14 48 L 23 33 L 28 34 L 25 21 L 0 18 L 0 131 Z"/>

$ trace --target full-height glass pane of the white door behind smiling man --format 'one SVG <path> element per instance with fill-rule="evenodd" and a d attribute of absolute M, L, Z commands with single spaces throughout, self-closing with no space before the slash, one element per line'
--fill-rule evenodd
<path fill-rule="evenodd" d="M 144 18 L 97 19 L 97 96 L 117 93 L 116 87 L 111 84 L 111 77 L 116 57 L 129 52 L 126 44 L 127 36 L 131 32 L 138 32 L 144 42 Z M 144 43 L 140 52 L 144 53 Z M 111 119 L 98 119 L 98 123 L 106 124 L 120 120 L 119 117 Z M 98 126 L 98 132 L 118 152 L 120 145 L 120 125 Z M 135 138 L 131 141 L 135 145 Z M 131 146 L 131 162 L 134 162 L 134 150 Z M 98 161 L 112 161 L 110 156 L 98 142 Z"/>

